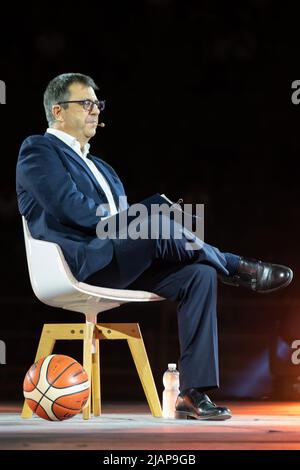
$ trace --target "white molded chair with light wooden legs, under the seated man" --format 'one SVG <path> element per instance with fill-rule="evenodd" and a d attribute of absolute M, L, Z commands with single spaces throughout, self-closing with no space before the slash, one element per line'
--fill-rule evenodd
<path fill-rule="evenodd" d="M 83 313 L 85 323 L 45 324 L 35 362 L 52 354 L 58 339 L 83 340 L 83 367 L 91 381 L 91 394 L 83 410 L 89 419 L 91 395 L 94 416 L 101 414 L 99 340 L 126 339 L 135 362 L 151 413 L 161 416 L 161 406 L 138 323 L 97 323 L 97 315 L 127 302 L 164 300 L 145 291 L 108 289 L 78 282 L 71 273 L 61 248 L 56 243 L 34 239 L 22 217 L 30 281 L 35 295 L 52 307 Z M 24 403 L 22 417 L 32 411 Z"/>

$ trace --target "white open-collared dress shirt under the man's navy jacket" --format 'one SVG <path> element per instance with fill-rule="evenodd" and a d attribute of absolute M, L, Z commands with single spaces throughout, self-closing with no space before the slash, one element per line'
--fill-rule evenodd
<path fill-rule="evenodd" d="M 82 152 L 81 147 L 80 147 L 80 142 L 77 139 L 75 139 L 75 137 L 73 137 L 72 135 L 67 134 L 66 132 L 63 132 L 63 131 L 59 131 L 58 129 L 52 129 L 52 128 L 48 128 L 47 132 L 48 134 L 53 134 L 58 139 L 62 140 L 66 145 L 71 147 L 71 149 L 74 150 L 74 152 L 76 152 L 77 155 L 79 155 L 82 158 L 84 163 L 89 167 L 89 169 L 95 176 L 101 189 L 103 190 L 105 196 L 107 197 L 109 209 L 110 209 L 110 215 L 116 214 L 118 212 L 118 209 L 116 207 L 115 200 L 113 198 L 113 195 L 112 195 L 112 192 L 111 192 L 111 189 L 107 180 L 104 178 L 102 173 L 98 170 L 96 165 L 94 165 L 92 160 L 87 158 L 87 155 L 90 149 L 90 144 L 85 144 L 83 152 Z"/>

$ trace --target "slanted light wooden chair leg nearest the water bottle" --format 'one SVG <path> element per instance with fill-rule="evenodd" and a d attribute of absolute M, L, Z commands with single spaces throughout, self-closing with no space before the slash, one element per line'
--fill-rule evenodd
<path fill-rule="evenodd" d="M 137 337 L 128 337 L 128 346 L 130 348 L 131 355 L 133 357 L 137 372 L 139 374 L 140 381 L 142 383 L 151 413 L 153 416 L 161 417 L 162 411 L 160 401 L 157 395 L 157 390 L 153 379 L 151 367 L 148 361 L 147 352 L 138 324 L 136 324 L 136 328 Z"/>

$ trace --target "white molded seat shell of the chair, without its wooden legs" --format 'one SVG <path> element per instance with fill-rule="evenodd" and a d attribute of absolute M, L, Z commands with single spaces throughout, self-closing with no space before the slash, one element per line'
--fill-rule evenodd
<path fill-rule="evenodd" d="M 163 300 L 146 291 L 110 289 L 78 282 L 56 243 L 33 238 L 23 219 L 28 270 L 37 298 L 53 307 L 97 314 L 126 302 Z"/>

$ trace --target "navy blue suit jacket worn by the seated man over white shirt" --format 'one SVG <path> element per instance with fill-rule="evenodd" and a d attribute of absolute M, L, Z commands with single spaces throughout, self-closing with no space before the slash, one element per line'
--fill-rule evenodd
<path fill-rule="evenodd" d="M 118 207 L 118 197 L 125 195 L 119 177 L 100 158 L 89 158 L 107 179 Z M 108 200 L 68 145 L 48 133 L 28 137 L 20 149 L 16 182 L 19 210 L 32 236 L 57 243 L 76 279 L 83 281 L 111 261 L 111 240 L 96 236 L 96 210 Z"/>

